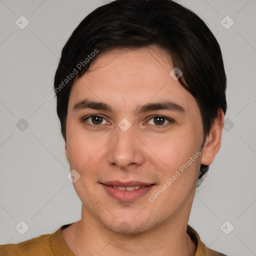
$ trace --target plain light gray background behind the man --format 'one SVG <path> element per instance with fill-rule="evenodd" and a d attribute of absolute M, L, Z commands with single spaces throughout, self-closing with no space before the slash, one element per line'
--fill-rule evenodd
<path fill-rule="evenodd" d="M 256 255 L 256 1 L 177 2 L 215 34 L 228 80 L 221 148 L 196 191 L 189 224 L 212 249 L 229 256 Z M 52 91 L 65 41 L 102 3 L 0 0 L 0 244 L 52 233 L 80 219 L 81 202 L 66 177 L 69 165 L 55 100 L 46 94 Z M 15 23 L 21 15 L 29 21 L 24 29 Z M 222 25 L 231 24 L 226 15 L 234 21 L 229 29 Z M 21 118 L 27 127 L 20 126 Z M 15 228 L 21 220 L 29 226 L 24 234 Z M 231 225 L 234 229 L 225 234 Z"/>

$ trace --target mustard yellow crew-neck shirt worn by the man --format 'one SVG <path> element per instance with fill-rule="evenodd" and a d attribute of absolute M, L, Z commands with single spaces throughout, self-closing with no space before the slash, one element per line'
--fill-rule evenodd
<path fill-rule="evenodd" d="M 62 225 L 52 234 L 42 234 L 17 244 L 7 243 L 0 245 L 0 256 L 74 256 L 60 232 L 70 224 Z M 187 233 L 196 245 L 194 256 L 226 256 L 207 248 L 200 240 L 197 232 L 189 225 L 187 225 Z"/>

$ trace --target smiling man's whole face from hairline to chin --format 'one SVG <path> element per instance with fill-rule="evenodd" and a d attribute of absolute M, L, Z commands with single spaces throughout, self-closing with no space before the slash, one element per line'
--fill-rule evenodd
<path fill-rule="evenodd" d="M 116 232 L 189 216 L 203 128 L 196 100 L 169 74 L 168 56 L 153 46 L 99 53 L 70 92 L 66 158 L 80 175 L 73 185 L 86 214 Z M 77 104 L 85 99 L 113 112 Z M 141 108 L 167 101 L 169 109 Z"/>

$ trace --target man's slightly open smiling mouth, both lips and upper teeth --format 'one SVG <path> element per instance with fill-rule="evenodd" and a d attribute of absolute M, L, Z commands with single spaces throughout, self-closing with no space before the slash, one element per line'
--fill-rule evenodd
<path fill-rule="evenodd" d="M 154 183 L 145 183 L 140 181 L 107 181 L 100 182 L 107 194 L 118 201 L 132 202 L 148 193 L 155 185 Z"/>

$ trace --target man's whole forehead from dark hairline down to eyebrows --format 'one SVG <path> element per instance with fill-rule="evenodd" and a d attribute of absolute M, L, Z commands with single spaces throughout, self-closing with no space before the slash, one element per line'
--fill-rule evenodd
<path fill-rule="evenodd" d="M 88 70 L 75 80 L 70 104 L 83 98 L 113 107 L 171 100 L 188 108 L 195 99 L 170 76 L 172 69 L 169 53 L 155 46 L 98 53 Z"/>

